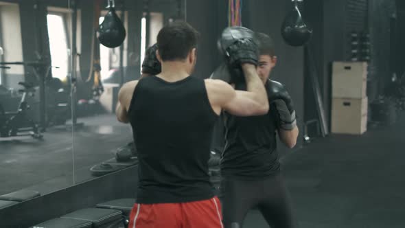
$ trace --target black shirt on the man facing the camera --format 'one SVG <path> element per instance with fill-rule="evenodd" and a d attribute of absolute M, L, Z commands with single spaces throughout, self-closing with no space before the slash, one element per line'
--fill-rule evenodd
<path fill-rule="evenodd" d="M 268 83 L 265 87 L 268 89 Z M 237 117 L 224 113 L 223 120 L 226 141 L 221 159 L 222 175 L 238 179 L 265 179 L 279 172 L 273 104 L 270 104 L 266 115 Z"/>

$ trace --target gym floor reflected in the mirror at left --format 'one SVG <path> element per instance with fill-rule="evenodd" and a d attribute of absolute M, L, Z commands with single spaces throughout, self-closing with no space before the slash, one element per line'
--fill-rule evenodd
<path fill-rule="evenodd" d="M 47 129 L 43 141 L 0 138 L 0 194 L 22 189 L 47 194 L 69 187 L 73 166 L 74 183 L 92 179 L 89 169 L 115 157 L 114 150 L 132 139 L 130 126 L 119 124 L 115 115 L 78 122 L 84 127 L 75 128 L 73 137 L 71 128 L 55 126 Z"/>

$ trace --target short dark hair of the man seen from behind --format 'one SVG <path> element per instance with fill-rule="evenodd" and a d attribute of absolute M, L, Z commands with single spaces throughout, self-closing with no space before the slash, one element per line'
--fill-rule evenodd
<path fill-rule="evenodd" d="M 163 61 L 183 60 L 197 47 L 200 34 L 184 21 L 170 23 L 157 35 L 159 55 Z"/>

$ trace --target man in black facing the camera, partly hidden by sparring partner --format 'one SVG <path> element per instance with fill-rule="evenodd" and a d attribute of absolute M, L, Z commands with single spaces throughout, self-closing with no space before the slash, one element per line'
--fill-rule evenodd
<path fill-rule="evenodd" d="M 257 34 L 259 66 L 270 104 L 266 115 L 237 117 L 224 112 L 225 146 L 221 159 L 224 227 L 242 227 L 249 209 L 257 207 L 272 228 L 296 227 L 290 196 L 280 172 L 276 134 L 289 148 L 298 128 L 292 100 L 279 82 L 269 80 L 277 57 L 272 38 Z M 236 85 L 235 89 L 246 89 Z"/>

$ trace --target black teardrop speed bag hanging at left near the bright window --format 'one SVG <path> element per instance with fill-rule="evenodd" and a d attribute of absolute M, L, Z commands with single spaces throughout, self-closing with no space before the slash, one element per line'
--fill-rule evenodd
<path fill-rule="evenodd" d="M 115 13 L 114 1 L 108 0 L 108 13 L 97 29 L 97 38 L 106 47 L 119 47 L 126 37 L 125 27 Z"/>

